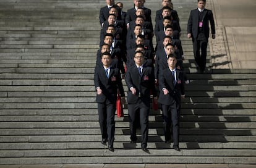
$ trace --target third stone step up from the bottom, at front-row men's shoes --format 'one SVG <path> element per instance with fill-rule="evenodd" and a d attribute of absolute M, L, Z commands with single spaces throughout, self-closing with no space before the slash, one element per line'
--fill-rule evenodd
<path fill-rule="evenodd" d="M 129 147 L 129 142 L 126 144 L 122 142 L 115 142 L 114 147 L 116 149 L 126 149 Z M 130 145 L 132 146 L 132 145 Z M 139 148 L 139 143 L 137 143 L 134 148 Z M 182 149 L 255 149 L 256 144 L 255 142 L 216 142 L 216 143 L 200 143 L 200 142 L 181 142 L 179 143 L 180 148 Z M 93 143 L 93 142 L 59 142 L 59 143 L 1 143 L 0 149 L 6 150 L 6 149 L 105 149 L 106 147 L 103 145 L 100 145 L 99 142 Z M 168 144 L 164 143 L 148 143 L 148 148 L 150 149 L 168 149 L 170 146 Z"/>

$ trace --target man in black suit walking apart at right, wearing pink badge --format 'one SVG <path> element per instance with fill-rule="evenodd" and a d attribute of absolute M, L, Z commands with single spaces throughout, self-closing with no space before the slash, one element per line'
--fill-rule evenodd
<path fill-rule="evenodd" d="M 207 57 L 207 44 L 209 38 L 209 21 L 211 24 L 211 38 L 215 39 L 215 23 L 211 10 L 205 9 L 206 0 L 198 0 L 197 9 L 190 11 L 187 22 L 187 37 L 193 41 L 194 57 L 197 69 L 201 73 L 205 70 Z M 200 54 L 201 50 L 201 54 Z"/>

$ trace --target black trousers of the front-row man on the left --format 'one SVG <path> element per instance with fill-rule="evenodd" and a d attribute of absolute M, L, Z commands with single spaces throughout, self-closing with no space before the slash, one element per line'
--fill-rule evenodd
<path fill-rule="evenodd" d="M 103 139 L 108 140 L 108 145 L 113 145 L 114 143 L 115 112 L 116 104 L 111 104 L 108 100 L 106 101 L 106 103 L 98 103 L 101 136 Z"/>

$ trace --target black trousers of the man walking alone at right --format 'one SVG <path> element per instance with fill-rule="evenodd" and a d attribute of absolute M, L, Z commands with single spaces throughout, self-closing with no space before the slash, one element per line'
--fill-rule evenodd
<path fill-rule="evenodd" d="M 197 63 L 200 70 L 205 70 L 206 59 L 207 59 L 207 38 L 193 38 L 193 50 L 195 62 Z M 201 51 L 201 53 L 200 53 Z"/>

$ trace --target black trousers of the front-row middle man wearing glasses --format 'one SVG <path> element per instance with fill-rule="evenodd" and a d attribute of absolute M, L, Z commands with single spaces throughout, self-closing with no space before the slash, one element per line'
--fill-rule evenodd
<path fill-rule="evenodd" d="M 129 124 L 130 124 L 130 140 L 136 141 L 137 122 L 136 112 L 140 115 L 140 132 L 142 134 L 141 147 L 146 148 L 148 142 L 148 115 L 149 106 L 142 102 L 141 99 L 136 104 L 128 104 Z"/>

